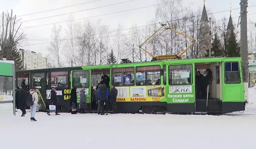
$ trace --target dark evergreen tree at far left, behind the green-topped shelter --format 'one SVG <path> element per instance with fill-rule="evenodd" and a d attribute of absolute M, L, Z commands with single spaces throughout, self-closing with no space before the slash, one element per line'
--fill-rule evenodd
<path fill-rule="evenodd" d="M 22 69 L 22 58 L 19 50 L 17 49 L 16 45 L 14 44 L 13 39 L 8 39 L 7 44 L 5 47 L 1 49 L 1 56 L 2 58 L 6 58 L 6 60 L 14 61 L 15 63 L 15 70 Z"/>

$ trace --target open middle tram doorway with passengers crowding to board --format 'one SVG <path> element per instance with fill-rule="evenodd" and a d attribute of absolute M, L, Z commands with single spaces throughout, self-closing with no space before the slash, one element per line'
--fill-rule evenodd
<path fill-rule="evenodd" d="M 104 77 L 104 79 L 102 78 L 102 76 Z M 105 78 L 106 77 L 106 78 Z M 96 102 L 96 97 L 97 95 L 95 95 L 95 90 L 93 89 L 93 87 L 97 87 L 98 84 L 101 83 L 106 83 L 108 82 L 107 85 L 109 85 L 109 78 L 110 78 L 110 69 L 93 69 L 92 73 L 91 73 L 91 82 L 92 82 L 92 90 L 91 90 L 91 110 L 92 111 L 97 111 L 97 102 Z M 108 105 L 110 106 L 110 104 Z M 110 109 L 110 107 L 108 107 L 108 109 Z"/>

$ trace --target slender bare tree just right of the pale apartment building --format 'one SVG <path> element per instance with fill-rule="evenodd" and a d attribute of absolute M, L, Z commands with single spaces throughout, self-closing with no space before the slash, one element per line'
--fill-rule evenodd
<path fill-rule="evenodd" d="M 56 25 L 53 26 L 52 28 L 52 39 L 53 41 L 50 44 L 50 47 L 47 47 L 47 51 L 49 54 L 47 55 L 48 62 L 50 65 L 54 68 L 62 67 L 62 52 L 60 50 L 61 46 L 61 31 L 62 31 L 62 26 L 59 26 L 58 28 Z"/>

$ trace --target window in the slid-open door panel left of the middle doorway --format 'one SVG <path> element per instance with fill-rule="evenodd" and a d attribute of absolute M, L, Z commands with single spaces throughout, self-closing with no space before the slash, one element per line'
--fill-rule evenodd
<path fill-rule="evenodd" d="M 73 87 L 89 87 L 89 71 L 73 71 Z"/>

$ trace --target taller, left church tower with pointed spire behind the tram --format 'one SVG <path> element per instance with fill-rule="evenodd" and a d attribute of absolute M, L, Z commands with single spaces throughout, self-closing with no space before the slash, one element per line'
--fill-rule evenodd
<path fill-rule="evenodd" d="M 207 53 L 206 51 L 209 51 L 209 49 L 211 48 L 210 26 L 205 8 L 205 0 L 203 1 L 203 11 L 200 20 L 198 45 L 198 58 L 203 58 Z"/>

